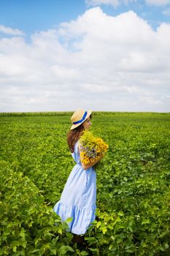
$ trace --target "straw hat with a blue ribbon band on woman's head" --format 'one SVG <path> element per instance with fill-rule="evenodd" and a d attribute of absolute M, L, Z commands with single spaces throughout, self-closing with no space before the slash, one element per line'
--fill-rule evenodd
<path fill-rule="evenodd" d="M 92 113 L 92 110 L 88 110 L 88 111 L 85 111 L 82 109 L 76 110 L 71 117 L 71 121 L 72 121 L 71 129 L 79 127 L 80 124 L 82 124 L 86 119 L 88 119 L 91 113 Z"/>

